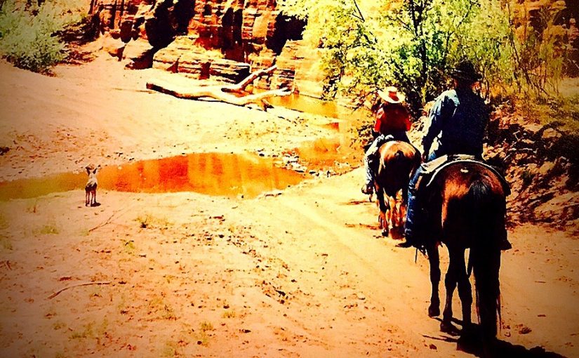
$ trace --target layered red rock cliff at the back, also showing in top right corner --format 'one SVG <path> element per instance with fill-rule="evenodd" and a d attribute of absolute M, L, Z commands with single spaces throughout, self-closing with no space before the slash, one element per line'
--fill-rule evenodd
<path fill-rule="evenodd" d="M 514 25 L 528 22 L 540 28 L 536 19 L 541 9 L 561 10 L 557 26 L 571 43 L 566 72 L 579 76 L 579 31 L 573 20 L 579 14 L 571 2 L 515 1 Z M 272 81 L 259 86 L 322 93 L 319 49 L 305 44 L 305 23 L 282 15 L 275 0 L 91 0 L 90 13 L 100 19 L 105 50 L 126 60 L 128 67 L 239 81 L 275 62 Z"/>

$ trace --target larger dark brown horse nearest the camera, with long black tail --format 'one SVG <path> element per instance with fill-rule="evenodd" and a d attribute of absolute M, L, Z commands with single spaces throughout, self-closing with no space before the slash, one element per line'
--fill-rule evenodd
<path fill-rule="evenodd" d="M 428 314 L 430 317 L 440 314 L 438 246 L 441 242 L 448 248 L 450 259 L 444 279 L 446 304 L 441 330 L 454 330 L 451 324 L 452 297 L 458 284 L 463 333 L 472 332 L 472 291 L 469 281 L 472 270 L 480 332 L 485 341 L 493 340 L 497 333 L 497 323 L 500 321 L 500 242 L 506 239 L 507 234 L 507 189 L 491 169 L 469 161 L 441 169 L 428 193 L 425 193 L 430 218 L 427 232 L 432 234 L 425 243 L 432 283 Z M 470 248 L 468 267 L 465 265 L 466 248 Z"/>

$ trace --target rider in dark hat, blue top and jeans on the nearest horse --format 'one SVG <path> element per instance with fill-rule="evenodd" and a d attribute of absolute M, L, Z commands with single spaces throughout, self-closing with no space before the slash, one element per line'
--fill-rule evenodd
<path fill-rule="evenodd" d="M 469 154 L 482 159 L 484 131 L 489 120 L 489 111 L 484 100 L 474 93 L 473 87 L 481 75 L 474 69 L 470 61 L 462 61 L 456 65 L 451 76 L 454 88 L 444 91 L 434 101 L 430 110 L 430 126 L 422 139 L 423 161 L 432 161 L 444 155 Z M 437 148 L 430 153 L 434 140 Z M 406 241 L 399 247 L 422 246 L 424 243 L 425 226 L 422 203 L 418 197 L 416 184 L 422 175 L 420 166 L 408 183 L 408 208 L 404 236 Z M 505 236 L 502 248 L 511 245 Z"/>

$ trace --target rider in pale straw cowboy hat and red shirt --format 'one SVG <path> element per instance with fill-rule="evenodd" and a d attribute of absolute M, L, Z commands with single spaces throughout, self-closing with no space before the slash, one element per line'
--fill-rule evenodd
<path fill-rule="evenodd" d="M 368 195 L 372 194 L 374 189 L 380 146 L 389 140 L 410 142 L 406 135 L 406 131 L 411 127 L 410 112 L 404 105 L 404 95 L 399 93 L 396 87 L 388 87 L 384 91 L 378 91 L 378 96 L 381 102 L 373 128 L 378 135 L 364 156 L 366 182 L 361 190 Z"/>

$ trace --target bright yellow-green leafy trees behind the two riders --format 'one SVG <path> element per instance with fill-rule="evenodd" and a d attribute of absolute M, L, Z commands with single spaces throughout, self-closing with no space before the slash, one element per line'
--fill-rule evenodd
<path fill-rule="evenodd" d="M 501 0 L 359 1 L 281 0 L 284 12 L 307 20 L 305 39 L 324 49 L 328 96 L 348 93 L 361 103 L 394 85 L 418 113 L 446 87 L 448 71 L 459 60 L 479 67 L 488 98 L 543 88 L 534 76 L 535 62 L 556 55 L 554 44 L 539 55 L 529 37 L 521 38 L 514 14 Z M 539 62 L 543 79 L 554 74 L 548 61 Z"/>

